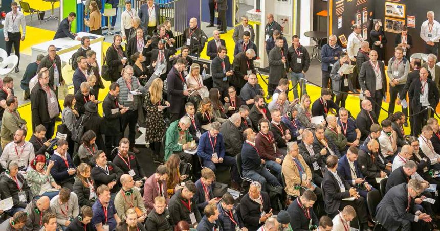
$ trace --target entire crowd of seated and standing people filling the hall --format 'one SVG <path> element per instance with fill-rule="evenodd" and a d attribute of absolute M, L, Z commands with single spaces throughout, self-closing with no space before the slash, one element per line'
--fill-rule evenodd
<path fill-rule="evenodd" d="M 176 56 L 171 22 L 159 24 L 160 7 L 152 0 L 137 14 L 125 2 L 122 36 L 114 36 L 106 51 L 105 70 L 100 70 L 90 38 L 70 31 L 76 14 L 61 22 L 55 38 L 81 41 L 72 57 L 74 93 L 65 96 L 61 110 L 58 91 L 66 77 L 51 45 L 48 55 L 29 64 L 21 82 L 31 101 L 29 141 L 13 80 L 3 79 L 0 198 L 12 198 L 12 207 L 0 211 L 0 228 L 346 231 L 380 224 L 386 230 L 436 229 L 440 129 L 434 114 L 440 72 L 434 67 L 437 53 L 430 48 L 438 46 L 437 35 L 431 34 L 438 27 L 433 12 L 425 28 L 432 53 L 427 63 L 409 61 L 412 44 L 405 27 L 395 39 L 386 72 L 381 60 L 387 40 L 380 24 L 371 31 L 371 46 L 356 24 L 346 51 L 335 35 L 329 36 L 321 54 L 321 94 L 312 99 L 302 81 L 310 56 L 297 35 L 289 46 L 281 26 L 267 15 L 266 93 L 253 64 L 258 44 L 248 18 L 241 17 L 234 29 L 231 63 L 221 39 L 226 1 L 212 2 L 210 12 L 219 13 L 220 31 L 213 31 L 206 46 L 210 89 L 203 83 L 206 62 L 192 59 L 207 41 L 199 22 L 189 20 Z M 99 34 L 99 6 L 88 4 L 85 24 Z M 17 14 L 16 3 L 11 6 L 8 15 Z M 213 22 L 211 15 L 209 26 Z M 340 71 L 346 63 L 356 63 L 353 72 Z M 108 89 L 104 81 L 111 82 Z M 345 101 L 358 85 L 363 99 L 355 117 L 349 111 L 353 105 Z M 99 91 L 106 93 L 102 104 Z M 388 92 L 387 118 L 379 121 Z M 403 102 L 407 96 L 409 112 Z M 403 112 L 394 112 L 394 102 Z M 313 123 L 318 116 L 324 121 Z M 408 119 L 410 133 L 404 130 Z M 151 157 L 160 162 L 150 176 L 139 160 L 147 153 L 135 146 L 139 126 L 146 128 Z M 228 187 L 238 198 L 219 190 L 223 186 L 216 178 L 223 174 L 230 174 Z"/>

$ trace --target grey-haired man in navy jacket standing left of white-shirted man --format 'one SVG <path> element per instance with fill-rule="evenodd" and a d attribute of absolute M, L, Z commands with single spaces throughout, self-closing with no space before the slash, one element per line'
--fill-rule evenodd
<path fill-rule="evenodd" d="M 330 72 L 342 52 L 342 48 L 339 47 L 337 41 L 336 35 L 332 34 L 328 37 L 328 44 L 323 45 L 321 48 L 321 86 L 325 88 L 333 89 Z"/>

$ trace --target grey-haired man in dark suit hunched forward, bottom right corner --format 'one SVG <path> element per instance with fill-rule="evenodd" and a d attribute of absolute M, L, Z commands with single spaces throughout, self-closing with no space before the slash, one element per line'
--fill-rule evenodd
<path fill-rule="evenodd" d="M 426 222 L 431 222 L 431 217 L 414 204 L 423 190 L 422 182 L 416 179 L 394 186 L 376 207 L 376 219 L 389 231 L 429 230 Z"/>

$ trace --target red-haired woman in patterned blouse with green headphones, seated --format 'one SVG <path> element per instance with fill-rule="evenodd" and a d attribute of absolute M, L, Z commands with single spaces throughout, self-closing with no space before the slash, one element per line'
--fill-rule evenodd
<path fill-rule="evenodd" d="M 51 176 L 51 169 L 54 166 L 54 161 L 49 160 L 49 164 L 46 166 L 46 157 L 44 155 L 37 155 L 31 161 L 31 170 L 26 173 L 26 179 L 28 180 L 33 195 L 48 196 L 52 199 L 58 195 L 58 190 L 61 189 L 54 178 Z"/>

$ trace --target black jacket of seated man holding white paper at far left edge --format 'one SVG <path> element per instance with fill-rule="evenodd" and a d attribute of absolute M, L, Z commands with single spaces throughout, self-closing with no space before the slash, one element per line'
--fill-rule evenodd
<path fill-rule="evenodd" d="M 30 202 L 33 195 L 26 179 L 21 173 L 17 173 L 17 180 L 23 183 L 23 186 L 21 186 L 21 192 L 26 194 L 26 201 Z M 19 199 L 18 193 L 20 193 L 20 190 L 17 188 L 17 183 L 15 180 L 7 176 L 6 172 L 0 174 L 0 193 L 2 194 L 2 198 L 6 199 L 12 197 L 15 208 L 26 208 L 27 202 L 21 202 Z"/>

